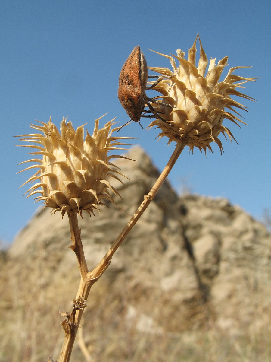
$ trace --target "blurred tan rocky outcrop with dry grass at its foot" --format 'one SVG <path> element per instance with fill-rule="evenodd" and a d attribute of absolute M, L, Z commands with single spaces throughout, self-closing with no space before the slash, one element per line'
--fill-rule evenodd
<path fill-rule="evenodd" d="M 137 162 L 116 162 L 130 179 L 114 184 L 124 201 L 79 220 L 89 270 L 159 176 L 140 148 L 128 157 Z M 69 237 L 68 218 L 45 209 L 1 260 L 0 362 L 58 358 L 59 312 L 79 284 Z M 165 182 L 91 289 L 71 361 L 269 361 L 270 245 L 238 206 Z"/>

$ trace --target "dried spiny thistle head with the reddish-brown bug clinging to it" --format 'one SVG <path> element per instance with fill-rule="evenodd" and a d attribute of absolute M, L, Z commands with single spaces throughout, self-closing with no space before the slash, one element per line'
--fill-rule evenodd
<path fill-rule="evenodd" d="M 156 119 L 150 124 L 150 127 L 158 126 L 162 131 L 159 134 L 160 138 L 167 136 L 169 143 L 182 142 L 188 145 L 192 151 L 194 147 L 198 147 L 199 150 L 203 149 L 205 152 L 207 148 L 212 151 L 210 143 L 214 141 L 222 152 L 222 143 L 218 139 L 219 133 L 222 132 L 224 136 L 227 134 L 230 139 L 235 139 L 231 131 L 222 125 L 223 120 L 227 118 L 237 125 L 236 121 L 244 123 L 237 117 L 240 114 L 233 107 L 242 110 L 247 108 L 233 100 L 231 96 L 253 100 L 238 92 L 236 88 L 244 88 L 242 87 L 244 83 L 255 81 L 255 78 L 244 78 L 233 74 L 236 69 L 250 67 L 234 67 L 229 69 L 223 81 L 219 81 L 224 67 L 227 66 L 228 56 L 221 59 L 218 65 L 215 65 L 216 59 L 211 59 L 205 75 L 208 59 L 200 39 L 200 57 L 198 67 L 195 66 L 197 38 L 192 48 L 188 50 L 188 60 L 184 59 L 185 53 L 180 49 L 176 51 L 177 56 L 157 53 L 170 60 L 173 71 L 168 68 L 149 67 L 150 70 L 162 75 L 173 76 L 170 80 L 162 80 L 153 89 L 163 94 L 163 102 L 174 106 L 172 109 L 153 103 L 154 109 L 162 112 L 163 118 L 167 122 Z M 180 64 L 178 67 L 173 57 Z"/>

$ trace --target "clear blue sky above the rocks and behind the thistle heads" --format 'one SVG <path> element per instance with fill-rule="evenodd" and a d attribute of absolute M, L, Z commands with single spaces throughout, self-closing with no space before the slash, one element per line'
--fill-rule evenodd
<path fill-rule="evenodd" d="M 123 63 L 140 45 L 149 66 L 169 66 L 164 54 L 186 52 L 197 32 L 208 59 L 229 56 L 229 66 L 253 66 L 236 73 L 260 77 L 243 100 L 248 126 L 239 129 L 227 120 L 237 142 L 223 141 L 224 153 L 212 146 L 207 157 L 185 149 L 169 180 L 179 192 L 226 197 L 260 219 L 271 207 L 270 191 L 270 3 L 267 1 L 13 1 L 2 0 L 0 120 L 1 120 L 1 229 L 0 239 L 12 241 L 38 204 L 23 193 L 27 173 L 17 164 L 27 159 L 14 135 L 29 133 L 34 119 L 59 125 L 68 115 L 74 127 L 108 112 L 104 122 L 128 121 L 119 104 L 117 88 Z M 199 47 L 198 47 L 199 48 Z M 225 73 L 225 72 L 224 72 Z M 142 120 L 143 126 L 148 121 Z M 158 131 L 134 123 L 121 130 L 134 136 L 163 169 L 172 151 Z M 31 174 L 31 173 L 30 173 Z M 30 176 L 28 174 L 28 176 Z"/>

